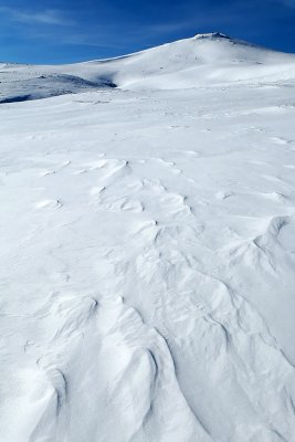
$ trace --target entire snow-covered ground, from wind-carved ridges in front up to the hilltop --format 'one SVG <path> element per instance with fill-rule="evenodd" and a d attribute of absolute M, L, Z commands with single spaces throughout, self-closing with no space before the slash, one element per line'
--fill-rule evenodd
<path fill-rule="evenodd" d="M 295 56 L 0 71 L 0 442 L 293 442 Z"/>

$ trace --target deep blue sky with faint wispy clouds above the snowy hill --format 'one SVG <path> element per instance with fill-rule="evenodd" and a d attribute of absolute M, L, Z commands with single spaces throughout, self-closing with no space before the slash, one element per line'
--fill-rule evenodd
<path fill-rule="evenodd" d="M 0 61 L 71 63 L 202 32 L 295 52 L 295 0 L 0 0 Z"/>

